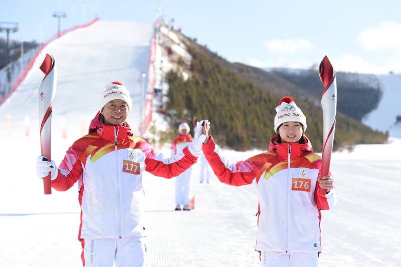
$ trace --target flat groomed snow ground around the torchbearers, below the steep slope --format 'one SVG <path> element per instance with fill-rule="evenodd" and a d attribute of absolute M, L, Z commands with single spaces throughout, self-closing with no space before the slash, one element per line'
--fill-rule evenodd
<path fill-rule="evenodd" d="M 56 163 L 73 141 L 55 140 Z M 0 154 L 0 265 L 82 266 L 77 185 L 44 195 L 35 173 L 37 139 L 0 142 L 8 151 Z M 319 266 L 401 265 L 400 149 L 401 140 L 392 139 L 390 144 L 333 153 L 338 203 L 322 212 Z M 256 153 L 224 151 L 232 162 Z M 228 186 L 214 175 L 210 184 L 200 184 L 199 164 L 194 168 L 192 211 L 173 210 L 174 178 L 144 175 L 147 266 L 259 266 L 254 185 Z"/>

